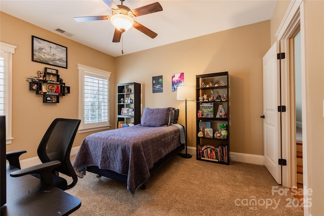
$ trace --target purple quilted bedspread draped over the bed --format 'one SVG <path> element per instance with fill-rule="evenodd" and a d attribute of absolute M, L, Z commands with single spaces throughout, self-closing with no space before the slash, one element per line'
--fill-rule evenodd
<path fill-rule="evenodd" d="M 134 194 L 150 178 L 149 169 L 181 144 L 180 125 L 134 125 L 89 135 L 82 142 L 73 167 L 79 176 L 95 165 L 127 175 L 127 189 Z M 182 139 L 183 140 L 183 139 Z"/>

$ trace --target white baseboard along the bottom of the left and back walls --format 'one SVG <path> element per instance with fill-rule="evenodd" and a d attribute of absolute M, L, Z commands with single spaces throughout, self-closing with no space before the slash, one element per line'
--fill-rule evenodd
<path fill-rule="evenodd" d="M 79 150 L 79 146 L 74 147 L 71 149 L 70 155 L 76 155 L 77 151 Z M 185 150 L 182 150 L 182 153 L 184 153 Z M 196 155 L 196 148 L 195 147 L 188 147 L 187 153 Z M 263 162 L 263 155 L 255 155 L 255 154 L 244 154 L 244 153 L 238 153 L 238 152 L 229 152 L 229 157 L 232 161 L 238 161 L 238 162 L 245 162 L 245 163 L 253 163 L 258 165 L 264 165 Z M 39 160 L 38 157 L 32 157 L 28 159 L 24 159 L 20 161 L 21 168 L 26 168 L 29 166 L 34 166 L 37 164 L 41 164 L 41 160 Z"/>

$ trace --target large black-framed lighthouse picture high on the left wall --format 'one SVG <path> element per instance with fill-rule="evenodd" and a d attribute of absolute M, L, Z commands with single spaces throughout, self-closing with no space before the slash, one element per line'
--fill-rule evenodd
<path fill-rule="evenodd" d="M 31 61 L 67 68 L 67 47 L 32 35 Z"/>

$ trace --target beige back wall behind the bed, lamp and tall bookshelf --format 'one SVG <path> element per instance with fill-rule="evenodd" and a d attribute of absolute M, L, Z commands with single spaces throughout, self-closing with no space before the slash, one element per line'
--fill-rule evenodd
<path fill-rule="evenodd" d="M 242 26 L 116 58 L 116 82 L 142 83 L 143 106 L 180 109 L 183 101 L 171 90 L 171 76 L 184 73 L 184 84 L 195 75 L 230 74 L 230 151 L 263 155 L 262 57 L 270 48 L 270 21 Z M 152 93 L 152 76 L 163 75 L 163 93 Z M 188 146 L 195 147 L 195 101 L 187 102 Z"/>

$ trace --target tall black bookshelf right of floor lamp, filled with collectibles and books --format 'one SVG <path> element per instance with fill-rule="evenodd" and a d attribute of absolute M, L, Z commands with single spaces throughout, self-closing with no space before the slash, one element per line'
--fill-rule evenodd
<path fill-rule="evenodd" d="M 197 160 L 229 165 L 229 99 L 229 74 L 227 71 L 196 75 Z M 225 114 L 220 112 L 218 115 L 218 110 L 223 110 Z M 219 136 L 219 134 L 222 135 L 219 131 L 221 130 L 220 126 L 223 125 L 226 125 L 227 136 Z M 204 128 L 212 129 L 212 135 L 205 137 L 210 135 L 211 131 L 208 133 L 207 130 L 205 133 Z M 226 133 L 223 132 L 223 135 Z"/>

